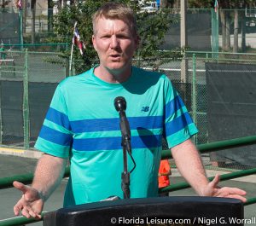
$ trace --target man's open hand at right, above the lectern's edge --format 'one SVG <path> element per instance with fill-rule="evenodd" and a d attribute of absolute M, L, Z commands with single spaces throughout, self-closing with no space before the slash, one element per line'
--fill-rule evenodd
<path fill-rule="evenodd" d="M 214 196 L 214 197 L 223 197 L 223 198 L 234 198 L 246 202 L 247 199 L 244 197 L 247 193 L 240 188 L 230 188 L 223 187 L 219 188 L 219 175 L 216 175 L 212 182 L 208 183 L 207 188 L 204 189 L 204 196 Z"/>

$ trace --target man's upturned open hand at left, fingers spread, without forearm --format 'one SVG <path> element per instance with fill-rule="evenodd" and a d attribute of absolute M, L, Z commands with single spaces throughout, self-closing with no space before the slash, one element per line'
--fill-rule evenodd
<path fill-rule="evenodd" d="M 15 215 L 18 216 L 21 212 L 26 218 L 41 218 L 40 213 L 43 211 L 44 199 L 38 190 L 16 181 L 13 185 L 23 193 L 20 200 L 14 206 Z"/>

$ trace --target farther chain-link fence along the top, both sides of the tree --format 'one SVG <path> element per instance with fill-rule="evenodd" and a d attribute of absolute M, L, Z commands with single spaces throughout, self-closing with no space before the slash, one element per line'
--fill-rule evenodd
<path fill-rule="evenodd" d="M 160 49 L 175 49 L 180 46 L 180 9 L 161 10 L 177 22 L 170 25 Z M 55 37 L 53 19 L 57 12 L 56 9 L 0 9 L 0 41 L 10 49 L 20 50 L 25 45 L 24 48 L 34 51 L 60 51 L 67 43 L 50 41 Z M 255 18 L 255 10 L 248 9 L 219 9 L 218 14 L 214 9 L 188 9 L 189 50 L 255 53 Z"/>

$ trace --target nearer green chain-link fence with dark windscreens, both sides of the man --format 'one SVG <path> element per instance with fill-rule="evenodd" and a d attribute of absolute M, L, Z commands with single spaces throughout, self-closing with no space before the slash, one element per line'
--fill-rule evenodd
<path fill-rule="evenodd" d="M 0 68 L 0 142 L 3 146 L 33 148 L 49 101 L 56 85 L 68 76 L 69 64 L 57 53 L 28 51 L 9 51 L 6 60 L 12 61 L 2 62 Z M 159 71 L 172 80 L 200 130 L 194 137 L 196 144 L 255 134 L 255 65 L 253 54 L 218 53 L 216 57 L 211 52 L 186 52 L 185 58 L 160 66 Z M 254 149 L 205 154 L 204 163 L 244 169 L 255 165 Z"/>

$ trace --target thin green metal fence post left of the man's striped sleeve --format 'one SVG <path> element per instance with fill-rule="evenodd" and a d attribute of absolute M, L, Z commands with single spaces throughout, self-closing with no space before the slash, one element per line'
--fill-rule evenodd
<path fill-rule="evenodd" d="M 23 131 L 24 131 L 24 148 L 29 148 L 29 106 L 28 106 L 28 54 L 25 50 L 24 78 L 23 78 Z"/>

